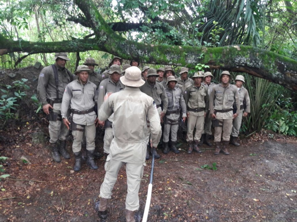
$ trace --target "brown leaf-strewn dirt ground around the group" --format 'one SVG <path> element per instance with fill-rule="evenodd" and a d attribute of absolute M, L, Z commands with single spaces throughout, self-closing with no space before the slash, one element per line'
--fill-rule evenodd
<path fill-rule="evenodd" d="M 0 163 L 5 170 L 0 175 L 10 176 L 0 181 L 0 222 L 100 221 L 94 202 L 105 159 L 97 160 L 98 170 L 83 165 L 78 173 L 72 170 L 73 154 L 61 163 L 51 159 L 48 121 L 43 113 L 35 114 L 37 107 L 29 101 L 36 93 L 39 72 L 33 67 L 18 70 L 14 79 L 7 78 L 9 71 L 0 73 L 2 84 L 27 78 L 31 88 L 28 100 L 21 103 L 20 118 L 1 121 L 0 156 L 9 158 Z M 96 146 L 103 151 L 99 134 Z M 69 136 L 69 151 L 71 144 Z M 297 221 L 297 138 L 263 131 L 241 138 L 241 144 L 230 146 L 229 156 L 214 156 L 206 145 L 202 154 L 189 155 L 181 141 L 180 154 L 162 154 L 155 160 L 148 221 Z M 210 169 L 213 165 L 217 170 Z M 139 190 L 141 214 L 150 171 L 148 160 Z M 125 221 L 126 192 L 122 168 L 106 221 Z"/>

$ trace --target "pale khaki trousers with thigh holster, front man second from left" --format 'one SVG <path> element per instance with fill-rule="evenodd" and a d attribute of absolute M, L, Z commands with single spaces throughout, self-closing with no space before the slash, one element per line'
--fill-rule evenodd
<path fill-rule="evenodd" d="M 81 141 L 83 139 L 83 132 L 86 135 L 86 149 L 87 150 L 94 150 L 95 149 L 95 136 L 96 136 L 96 126 L 95 123 L 90 126 L 81 126 L 76 125 L 76 129 L 73 130 L 73 143 L 72 143 L 72 151 L 74 153 L 80 152 L 81 150 Z"/>

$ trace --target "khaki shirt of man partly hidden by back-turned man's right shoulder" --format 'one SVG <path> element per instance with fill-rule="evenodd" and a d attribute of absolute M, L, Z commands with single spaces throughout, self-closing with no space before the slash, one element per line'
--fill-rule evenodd
<path fill-rule="evenodd" d="M 168 99 L 165 92 L 165 88 L 161 85 L 161 83 L 155 82 L 154 86 L 152 86 L 148 81 L 146 81 L 146 83 L 140 86 L 140 91 L 142 91 L 148 96 L 151 96 L 154 99 L 157 106 L 161 105 L 162 103 L 162 112 L 166 113 L 168 107 Z"/>

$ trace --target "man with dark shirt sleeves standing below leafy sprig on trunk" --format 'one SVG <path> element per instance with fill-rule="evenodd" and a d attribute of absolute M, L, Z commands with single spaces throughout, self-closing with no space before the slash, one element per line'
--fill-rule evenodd
<path fill-rule="evenodd" d="M 203 75 L 197 72 L 192 76 L 194 84 L 184 92 L 185 102 L 187 104 L 188 132 L 187 142 L 189 144 L 188 153 L 196 151 L 201 153 L 198 144 L 202 135 L 204 118 L 208 112 L 209 96 L 207 87 L 203 86 Z M 196 128 L 193 139 L 194 128 Z"/>

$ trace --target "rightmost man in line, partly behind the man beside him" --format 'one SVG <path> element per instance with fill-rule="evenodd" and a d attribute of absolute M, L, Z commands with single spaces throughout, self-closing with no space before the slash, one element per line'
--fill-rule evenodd
<path fill-rule="evenodd" d="M 251 112 L 249 92 L 246 88 L 244 88 L 244 86 L 242 85 L 243 83 L 245 83 L 244 76 L 237 75 L 235 78 L 235 86 L 237 87 L 239 94 L 240 112 L 238 116 L 235 119 L 233 119 L 233 127 L 230 135 L 230 144 L 233 144 L 237 147 L 240 146 L 240 144 L 237 142 L 237 137 L 241 126 L 242 117 L 246 117 Z"/>

